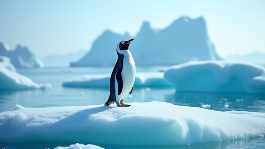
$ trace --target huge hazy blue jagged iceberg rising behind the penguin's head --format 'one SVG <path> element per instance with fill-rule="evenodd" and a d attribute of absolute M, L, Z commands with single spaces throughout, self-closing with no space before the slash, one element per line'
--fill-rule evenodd
<path fill-rule="evenodd" d="M 71 66 L 115 65 L 116 47 L 120 41 L 130 40 L 105 31 L 93 43 L 89 52 Z M 202 17 L 181 17 L 162 30 L 154 30 L 144 22 L 129 46 L 136 65 L 176 65 L 190 60 L 221 60 L 215 52 Z"/>

